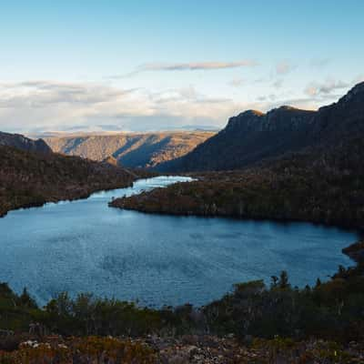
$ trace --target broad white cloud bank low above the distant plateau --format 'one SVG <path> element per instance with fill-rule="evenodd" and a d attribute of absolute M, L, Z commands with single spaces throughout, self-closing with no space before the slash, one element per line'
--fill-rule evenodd
<path fill-rule="evenodd" d="M 194 86 L 155 92 L 86 82 L 0 83 L 0 130 L 7 131 L 223 126 L 228 116 L 247 107 L 226 97 L 203 95 Z"/>

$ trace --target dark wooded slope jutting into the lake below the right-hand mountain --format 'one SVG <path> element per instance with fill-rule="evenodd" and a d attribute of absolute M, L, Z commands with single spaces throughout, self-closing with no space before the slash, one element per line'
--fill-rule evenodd
<path fill-rule="evenodd" d="M 307 150 L 241 171 L 209 172 L 113 207 L 176 215 L 301 220 L 364 227 L 364 140 Z"/>

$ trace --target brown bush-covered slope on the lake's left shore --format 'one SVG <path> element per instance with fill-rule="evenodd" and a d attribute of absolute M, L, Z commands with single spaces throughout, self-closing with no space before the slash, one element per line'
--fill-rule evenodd
<path fill-rule="evenodd" d="M 0 147 L 0 216 L 18 207 L 88 197 L 130 186 L 135 175 L 108 163 Z"/>

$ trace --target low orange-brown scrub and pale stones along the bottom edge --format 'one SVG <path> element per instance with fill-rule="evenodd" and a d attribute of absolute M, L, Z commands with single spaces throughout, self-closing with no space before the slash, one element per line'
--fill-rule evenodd
<path fill-rule="evenodd" d="M 291 339 L 253 339 L 249 344 L 234 338 L 216 336 L 183 336 L 179 339 L 147 337 L 69 338 L 45 337 L 27 339 L 18 349 L 0 351 L 0 364 L 308 364 L 361 363 L 363 346 L 347 346 L 332 341 Z"/>

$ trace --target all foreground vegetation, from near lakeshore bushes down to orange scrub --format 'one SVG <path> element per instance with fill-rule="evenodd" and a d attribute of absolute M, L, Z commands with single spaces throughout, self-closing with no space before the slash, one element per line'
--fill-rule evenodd
<path fill-rule="evenodd" d="M 362 362 L 364 243 L 344 251 L 356 258 L 356 266 L 339 267 L 328 282 L 295 288 L 283 271 L 271 278 L 269 287 L 263 281 L 237 284 L 202 308 L 139 308 L 116 299 L 89 294 L 70 298 L 66 293 L 38 308 L 26 289 L 17 295 L 3 283 L 0 363 Z M 222 361 L 186 359 L 192 350 L 198 357 L 205 351 L 210 355 L 213 348 Z M 228 352 L 230 359 L 220 351 Z M 161 361 L 161 355 L 185 361 Z M 79 361 L 72 361 L 76 357 Z"/>

